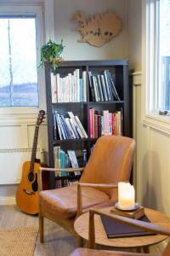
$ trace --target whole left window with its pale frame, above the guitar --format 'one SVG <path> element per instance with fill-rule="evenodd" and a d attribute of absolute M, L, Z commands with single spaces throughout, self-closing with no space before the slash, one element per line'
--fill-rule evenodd
<path fill-rule="evenodd" d="M 13 0 L 11 0 L 12 2 Z M 14 2 L 14 1 L 13 1 Z M 36 1 L 35 1 L 36 2 Z M 45 107 L 42 69 L 37 69 L 44 44 L 42 5 L 0 3 L 0 117 L 37 114 Z M 24 118 L 20 115 L 20 118 Z"/>

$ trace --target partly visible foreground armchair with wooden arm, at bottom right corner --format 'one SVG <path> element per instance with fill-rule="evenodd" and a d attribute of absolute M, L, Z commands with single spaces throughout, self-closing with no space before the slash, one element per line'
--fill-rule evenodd
<path fill-rule="evenodd" d="M 111 219 L 116 219 L 124 224 L 130 224 L 134 227 L 139 227 L 142 230 L 153 231 L 156 234 L 170 236 L 170 230 L 165 230 L 156 224 L 145 223 L 132 218 L 125 218 L 114 214 L 109 214 L 96 209 L 89 210 L 89 232 L 88 232 L 88 248 L 77 248 L 70 256 L 169 256 L 170 255 L 170 241 L 167 244 L 163 253 L 124 253 L 118 251 L 103 251 L 95 250 L 95 230 L 94 230 L 94 214 L 105 216 Z"/>

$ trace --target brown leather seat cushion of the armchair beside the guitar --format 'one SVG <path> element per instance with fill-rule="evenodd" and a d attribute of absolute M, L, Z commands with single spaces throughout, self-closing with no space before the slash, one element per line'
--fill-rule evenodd
<path fill-rule="evenodd" d="M 59 218 L 72 218 L 77 214 L 77 185 L 43 190 L 39 194 L 40 205 Z M 111 200 L 104 192 L 94 188 L 82 188 L 82 209 L 109 204 Z M 108 205 L 107 204 L 107 205 Z M 104 206 L 104 205 L 102 205 Z"/>

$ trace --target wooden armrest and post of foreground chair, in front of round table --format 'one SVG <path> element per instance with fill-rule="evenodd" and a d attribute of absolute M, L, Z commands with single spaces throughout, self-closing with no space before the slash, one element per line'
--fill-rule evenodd
<path fill-rule="evenodd" d="M 127 218 L 123 216 L 119 216 L 116 214 L 110 214 L 102 212 L 102 210 L 98 209 L 90 209 L 89 210 L 89 232 L 88 232 L 88 247 L 94 248 L 95 247 L 95 231 L 94 231 L 94 215 L 98 214 L 100 216 L 105 216 L 107 218 L 116 219 L 124 224 L 130 224 L 133 227 L 141 228 L 142 230 L 151 231 L 156 234 L 160 234 L 163 236 L 170 236 L 170 230 L 166 230 L 162 228 L 161 226 L 158 226 L 156 224 L 146 223 L 141 220 L 133 219 L 133 218 Z"/>

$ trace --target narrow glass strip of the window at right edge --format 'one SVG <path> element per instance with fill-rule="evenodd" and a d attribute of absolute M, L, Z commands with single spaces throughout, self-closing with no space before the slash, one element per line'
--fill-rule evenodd
<path fill-rule="evenodd" d="M 157 108 L 170 109 L 170 0 L 157 3 L 158 83 Z"/>

